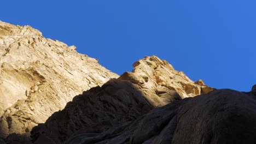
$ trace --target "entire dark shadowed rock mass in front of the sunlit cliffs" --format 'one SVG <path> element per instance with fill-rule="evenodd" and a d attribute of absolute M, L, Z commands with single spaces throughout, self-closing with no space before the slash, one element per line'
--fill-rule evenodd
<path fill-rule="evenodd" d="M 219 89 L 153 109 L 129 81 L 78 95 L 34 127 L 34 143 L 256 143 L 251 92 Z M 171 95 L 170 95 L 171 97 Z"/>

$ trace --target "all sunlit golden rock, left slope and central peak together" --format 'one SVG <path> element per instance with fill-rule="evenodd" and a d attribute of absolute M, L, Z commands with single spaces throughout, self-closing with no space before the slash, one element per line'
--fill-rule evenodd
<path fill-rule="evenodd" d="M 77 53 L 75 46 L 46 39 L 30 26 L 5 22 L 0 22 L 0 65 L 0 137 L 10 141 L 29 137 L 35 125 L 62 110 L 75 95 L 119 77 L 96 59 Z M 138 87 L 135 93 L 143 95 L 143 103 L 148 103 L 145 111 L 212 91 L 202 81 L 194 83 L 155 56 L 145 57 L 133 67 L 131 73 L 119 79 Z M 120 92 L 120 97 L 133 92 L 128 90 Z"/>

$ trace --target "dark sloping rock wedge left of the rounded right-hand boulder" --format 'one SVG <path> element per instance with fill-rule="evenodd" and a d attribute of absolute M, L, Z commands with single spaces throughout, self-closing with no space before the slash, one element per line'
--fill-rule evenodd
<path fill-rule="evenodd" d="M 125 123 L 119 127 L 112 127 L 103 133 L 74 134 L 66 141 L 71 143 L 151 143 L 157 136 L 162 142 L 170 141 L 176 127 L 178 106 L 182 100 L 173 101 L 163 107 L 151 110 L 146 115 Z M 166 137 L 168 135 L 168 137 Z"/>

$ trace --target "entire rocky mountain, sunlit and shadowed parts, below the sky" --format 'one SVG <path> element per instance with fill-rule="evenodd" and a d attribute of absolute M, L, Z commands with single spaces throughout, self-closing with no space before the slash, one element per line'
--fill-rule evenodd
<path fill-rule="evenodd" d="M 192 81 L 156 56 L 118 76 L 0 21 L 0 143 L 255 143 L 251 92 Z"/>

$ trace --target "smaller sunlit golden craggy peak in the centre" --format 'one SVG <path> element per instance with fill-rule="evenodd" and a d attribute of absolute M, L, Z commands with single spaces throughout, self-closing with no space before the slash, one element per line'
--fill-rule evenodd
<path fill-rule="evenodd" d="M 173 91 L 181 98 L 188 98 L 214 90 L 202 80 L 193 82 L 182 71 L 174 70 L 171 64 L 156 56 L 146 56 L 135 62 L 133 67 L 132 72 L 124 73 L 119 79 L 137 84 L 144 97 L 155 107 L 169 104 L 173 100 L 169 97 Z"/>

